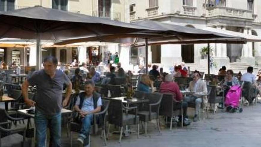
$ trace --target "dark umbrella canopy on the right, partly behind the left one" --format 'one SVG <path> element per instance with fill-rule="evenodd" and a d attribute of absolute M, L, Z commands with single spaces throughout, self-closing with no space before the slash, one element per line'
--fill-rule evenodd
<path fill-rule="evenodd" d="M 84 38 L 71 38 L 63 39 L 60 42 L 56 42 L 57 45 L 64 45 L 76 42 L 88 42 L 88 41 L 103 41 L 103 42 L 118 42 L 118 43 L 130 43 L 130 44 L 144 44 L 145 39 L 148 39 L 148 44 L 153 43 L 193 43 L 192 41 L 200 43 L 214 43 L 214 42 L 229 42 L 235 43 L 244 39 L 232 35 L 222 34 L 219 32 L 206 31 L 201 29 L 190 28 L 186 26 L 179 26 L 174 24 L 162 23 L 153 20 L 142 20 L 133 24 L 139 26 L 149 26 L 152 29 L 160 30 L 158 32 L 138 32 L 138 33 L 127 33 L 122 36 L 104 35 L 101 37 L 84 37 Z M 241 42 L 241 43 L 242 43 Z"/>

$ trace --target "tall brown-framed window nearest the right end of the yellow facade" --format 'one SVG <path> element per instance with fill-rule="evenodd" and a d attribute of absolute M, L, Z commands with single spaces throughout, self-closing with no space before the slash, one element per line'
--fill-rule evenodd
<path fill-rule="evenodd" d="M 111 0 L 98 1 L 99 17 L 111 18 Z"/>

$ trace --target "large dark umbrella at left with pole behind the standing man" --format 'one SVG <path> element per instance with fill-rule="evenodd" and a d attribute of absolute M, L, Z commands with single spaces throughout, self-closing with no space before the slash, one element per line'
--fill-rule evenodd
<path fill-rule="evenodd" d="M 106 34 L 153 30 L 144 26 L 41 6 L 0 12 L 0 28 L 0 38 L 37 39 L 36 59 L 38 69 L 41 65 L 41 39 L 58 40 L 73 37 L 97 37 Z"/>

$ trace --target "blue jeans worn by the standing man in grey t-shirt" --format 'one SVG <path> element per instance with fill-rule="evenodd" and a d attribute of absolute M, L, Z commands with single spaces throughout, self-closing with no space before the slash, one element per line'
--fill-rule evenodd
<path fill-rule="evenodd" d="M 61 112 L 45 114 L 35 111 L 36 147 L 45 147 L 46 130 L 50 129 L 50 147 L 61 146 Z"/>

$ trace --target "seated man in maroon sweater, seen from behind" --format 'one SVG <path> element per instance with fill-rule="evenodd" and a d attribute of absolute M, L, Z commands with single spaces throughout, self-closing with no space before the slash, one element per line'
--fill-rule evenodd
<path fill-rule="evenodd" d="M 176 97 L 173 97 L 173 100 L 175 102 L 179 102 L 182 100 L 183 96 L 179 90 L 179 86 L 177 83 L 174 82 L 173 80 L 173 75 L 166 75 L 165 76 L 165 82 L 160 85 L 160 92 L 161 93 L 171 93 Z M 181 103 L 176 103 L 176 106 L 174 106 L 176 110 L 181 108 Z M 183 116 L 184 116 L 184 121 L 183 123 L 185 125 L 188 125 L 189 122 L 187 120 L 187 107 L 188 103 L 187 102 L 182 102 L 182 107 L 183 107 Z M 181 118 L 180 118 L 181 119 Z"/>

